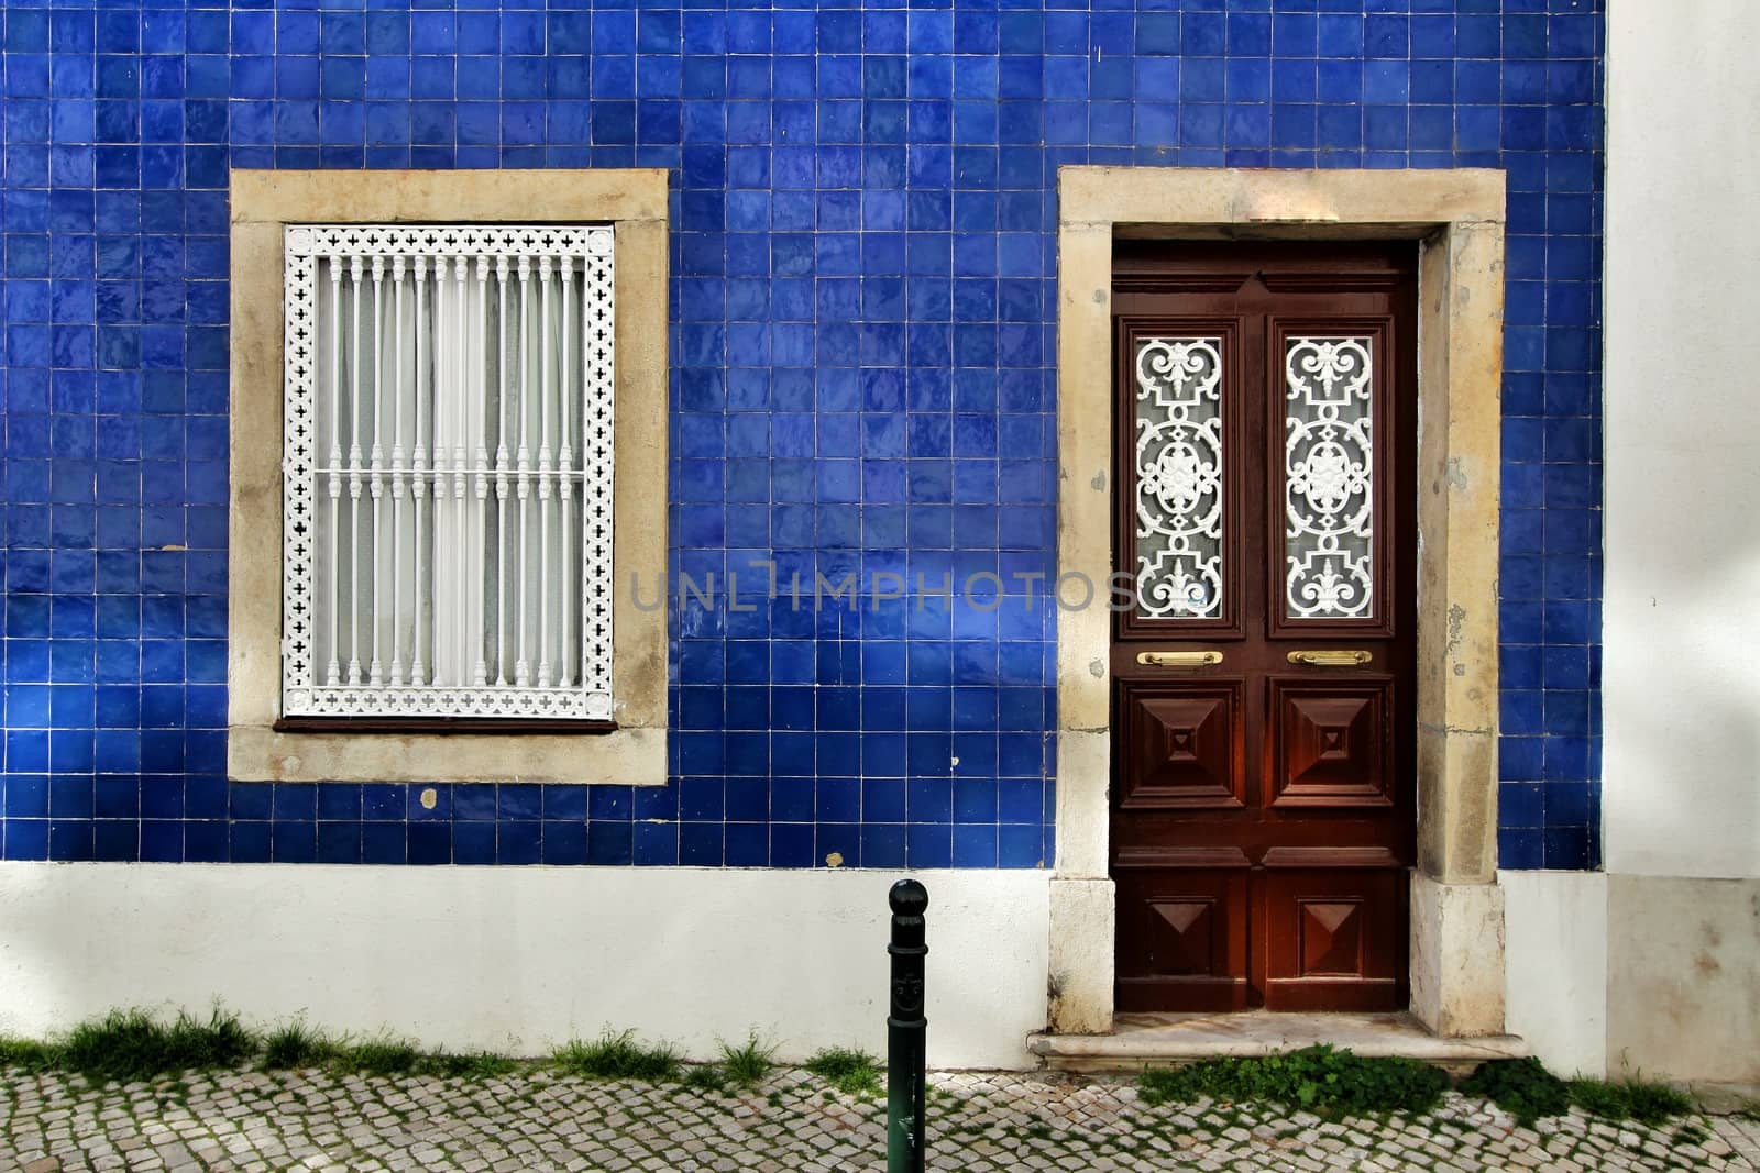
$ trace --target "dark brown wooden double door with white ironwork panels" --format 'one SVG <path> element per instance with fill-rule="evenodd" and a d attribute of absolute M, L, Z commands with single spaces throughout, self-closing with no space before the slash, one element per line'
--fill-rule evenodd
<path fill-rule="evenodd" d="M 1401 1009 L 1417 257 L 1121 244 L 1119 1009 Z"/>

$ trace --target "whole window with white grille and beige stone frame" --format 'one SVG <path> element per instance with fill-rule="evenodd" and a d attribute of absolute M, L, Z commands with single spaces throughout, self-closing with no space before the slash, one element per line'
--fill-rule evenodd
<path fill-rule="evenodd" d="M 232 777 L 665 781 L 665 227 L 664 171 L 232 174 Z"/>

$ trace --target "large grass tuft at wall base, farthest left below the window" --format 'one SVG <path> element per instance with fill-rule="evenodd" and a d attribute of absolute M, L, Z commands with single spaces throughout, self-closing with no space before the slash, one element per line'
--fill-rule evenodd
<path fill-rule="evenodd" d="M 208 1022 L 180 1011 L 169 1025 L 144 1009 L 113 1009 L 83 1022 L 53 1048 L 56 1066 L 97 1080 L 146 1080 L 167 1071 L 238 1067 L 257 1053 L 257 1036 L 218 1008 Z"/>

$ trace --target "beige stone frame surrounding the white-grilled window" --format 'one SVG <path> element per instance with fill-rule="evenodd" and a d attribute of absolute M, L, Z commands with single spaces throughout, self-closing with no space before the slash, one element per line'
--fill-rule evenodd
<path fill-rule="evenodd" d="M 616 250 L 612 700 L 583 733 L 278 732 L 283 229 L 611 223 Z M 667 781 L 667 225 L 664 169 L 232 171 L 227 777 L 301 783 Z M 641 584 L 641 591 L 632 589 Z"/>

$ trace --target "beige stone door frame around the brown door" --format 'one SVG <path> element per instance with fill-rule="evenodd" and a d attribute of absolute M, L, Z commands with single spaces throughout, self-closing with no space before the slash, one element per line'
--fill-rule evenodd
<path fill-rule="evenodd" d="M 1068 165 L 1058 172 L 1058 573 L 1112 570 L 1116 239 L 1419 243 L 1417 841 L 1412 1011 L 1503 1032 L 1498 524 L 1505 174 Z M 1111 616 L 1058 617 L 1051 1029 L 1112 1029 Z"/>

